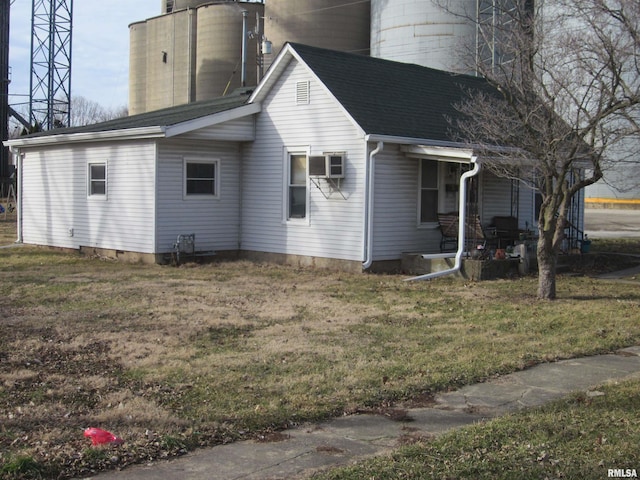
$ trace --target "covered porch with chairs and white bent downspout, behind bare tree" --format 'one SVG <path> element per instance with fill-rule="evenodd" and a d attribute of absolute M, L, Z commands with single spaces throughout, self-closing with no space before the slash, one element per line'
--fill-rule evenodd
<path fill-rule="evenodd" d="M 493 174 L 484 165 L 487 160 L 473 154 L 442 156 L 437 149 L 420 145 L 403 147 L 403 151 L 410 157 L 439 162 L 436 221 L 441 237 L 437 250 L 431 246 L 404 253 L 403 272 L 415 275 L 412 279 L 456 274 L 485 280 L 535 270 L 540 199 L 530 186 Z M 582 251 L 583 213 L 582 198 L 575 198 L 563 253 Z"/>

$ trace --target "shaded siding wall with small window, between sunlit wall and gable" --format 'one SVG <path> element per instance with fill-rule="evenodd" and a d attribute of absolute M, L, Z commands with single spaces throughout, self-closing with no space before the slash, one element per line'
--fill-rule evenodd
<path fill-rule="evenodd" d="M 237 250 L 240 222 L 240 144 L 164 140 L 158 146 L 157 244 L 173 250 L 179 234 L 196 234 L 198 251 Z M 184 158 L 219 160 L 218 198 L 183 195 Z"/>

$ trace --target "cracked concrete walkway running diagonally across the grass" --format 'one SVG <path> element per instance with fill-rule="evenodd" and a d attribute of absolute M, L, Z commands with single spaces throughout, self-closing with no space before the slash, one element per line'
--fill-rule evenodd
<path fill-rule="evenodd" d="M 640 347 L 539 365 L 438 395 L 429 407 L 345 416 L 281 432 L 271 441 L 222 445 L 92 478 L 300 479 L 320 468 L 385 453 L 407 437 L 438 435 L 507 412 L 542 405 L 571 392 L 590 392 L 600 384 L 631 377 L 640 378 Z"/>

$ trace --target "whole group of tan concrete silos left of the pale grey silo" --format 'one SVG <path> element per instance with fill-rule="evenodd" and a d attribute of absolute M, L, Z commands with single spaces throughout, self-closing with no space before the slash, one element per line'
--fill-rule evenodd
<path fill-rule="evenodd" d="M 287 41 L 368 55 L 369 32 L 369 0 L 162 0 L 129 26 L 129 113 L 256 85 Z"/>

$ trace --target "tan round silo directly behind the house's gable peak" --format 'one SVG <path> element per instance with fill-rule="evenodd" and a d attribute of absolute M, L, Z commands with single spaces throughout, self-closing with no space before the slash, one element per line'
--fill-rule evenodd
<path fill-rule="evenodd" d="M 370 4 L 345 0 L 266 0 L 265 35 L 273 49 L 271 55 L 265 55 L 265 64 L 271 64 L 286 42 L 368 55 Z"/>

